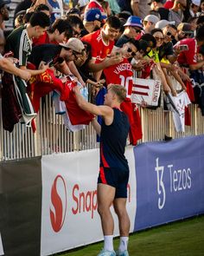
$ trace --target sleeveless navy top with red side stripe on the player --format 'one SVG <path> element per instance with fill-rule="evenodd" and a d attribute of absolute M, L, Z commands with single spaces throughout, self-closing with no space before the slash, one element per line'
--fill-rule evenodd
<path fill-rule="evenodd" d="M 118 108 L 113 108 L 114 116 L 111 125 L 101 124 L 100 134 L 100 167 L 117 167 L 128 169 L 124 157 L 124 148 L 130 128 L 127 115 Z"/>

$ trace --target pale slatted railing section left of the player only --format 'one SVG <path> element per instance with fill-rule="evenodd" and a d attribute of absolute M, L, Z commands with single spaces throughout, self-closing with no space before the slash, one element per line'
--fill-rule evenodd
<path fill-rule="evenodd" d="M 21 123 L 16 124 L 13 132 L 10 133 L 3 130 L 2 111 L 0 111 L 0 161 L 98 147 L 96 134 L 91 125 L 78 132 L 67 130 L 62 116 L 54 113 L 51 94 L 43 99 L 35 124 L 35 133 L 31 127 Z"/>

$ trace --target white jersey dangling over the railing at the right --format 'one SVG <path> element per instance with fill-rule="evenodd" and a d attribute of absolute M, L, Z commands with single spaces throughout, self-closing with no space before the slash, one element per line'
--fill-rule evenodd
<path fill-rule="evenodd" d="M 169 110 L 173 111 L 173 120 L 175 123 L 176 132 L 184 132 L 185 131 L 185 108 L 190 104 L 190 100 L 188 98 L 188 94 L 185 91 L 182 91 L 177 96 L 171 96 L 173 102 L 175 103 L 175 108 L 170 108 Z"/>

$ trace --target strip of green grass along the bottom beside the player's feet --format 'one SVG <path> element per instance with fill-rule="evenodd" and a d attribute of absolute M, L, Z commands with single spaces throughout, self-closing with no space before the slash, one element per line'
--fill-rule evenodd
<path fill-rule="evenodd" d="M 63 256 L 96 256 L 103 243 L 84 246 Z M 114 240 L 115 248 L 118 239 Z M 130 256 L 204 256 L 204 215 L 131 234 Z"/>

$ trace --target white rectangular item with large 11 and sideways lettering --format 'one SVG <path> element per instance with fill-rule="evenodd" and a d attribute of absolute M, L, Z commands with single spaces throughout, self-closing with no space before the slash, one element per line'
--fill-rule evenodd
<path fill-rule="evenodd" d="M 131 101 L 139 105 L 146 102 L 148 106 L 157 106 L 160 90 L 160 81 L 133 77 Z"/>

